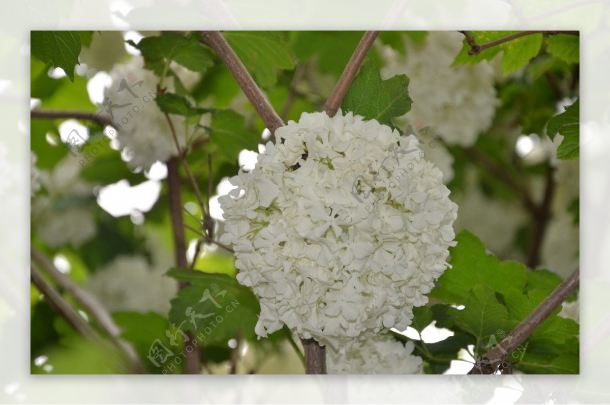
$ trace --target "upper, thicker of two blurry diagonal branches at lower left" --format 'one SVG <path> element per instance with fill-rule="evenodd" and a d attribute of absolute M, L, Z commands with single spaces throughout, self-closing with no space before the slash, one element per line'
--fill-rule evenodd
<path fill-rule="evenodd" d="M 134 346 L 120 338 L 121 329 L 117 326 L 117 324 L 115 324 L 110 316 L 110 313 L 106 310 L 106 308 L 104 308 L 104 305 L 102 305 L 98 299 L 96 299 L 96 297 L 85 291 L 70 277 L 62 274 L 62 272 L 60 272 L 53 264 L 51 259 L 46 257 L 45 254 L 40 252 L 40 250 L 36 249 L 34 246 L 30 247 L 30 256 L 36 263 L 38 263 L 38 266 L 40 266 L 40 268 L 42 268 L 46 274 L 48 274 L 51 279 L 57 283 L 57 285 L 63 288 L 63 290 L 66 290 L 71 296 L 74 297 L 74 300 L 78 302 L 79 305 L 85 308 L 95 323 L 100 327 L 100 329 L 104 330 L 104 332 L 109 335 L 112 343 L 114 343 L 127 356 L 127 359 L 133 363 L 134 367 L 137 367 L 140 371 L 145 370 L 142 360 L 140 360 Z"/>

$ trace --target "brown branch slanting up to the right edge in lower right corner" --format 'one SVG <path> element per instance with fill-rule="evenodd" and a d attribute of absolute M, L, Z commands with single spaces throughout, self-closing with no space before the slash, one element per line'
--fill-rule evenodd
<path fill-rule="evenodd" d="M 529 335 L 542 324 L 553 311 L 565 301 L 567 297 L 578 290 L 580 285 L 580 268 L 564 280 L 555 290 L 549 294 L 540 305 L 530 313 L 523 321 L 499 345 L 495 346 L 484 356 L 476 360 L 475 367 L 468 374 L 493 374 L 508 356 L 515 351 L 529 337 Z"/>

